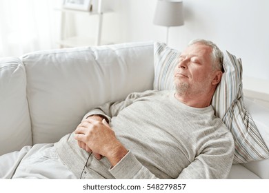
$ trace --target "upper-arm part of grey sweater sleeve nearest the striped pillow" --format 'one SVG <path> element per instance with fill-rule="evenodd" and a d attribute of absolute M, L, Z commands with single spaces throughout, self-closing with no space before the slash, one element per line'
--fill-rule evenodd
<path fill-rule="evenodd" d="M 226 179 L 235 151 L 232 134 L 227 132 L 208 141 L 195 160 L 182 170 L 179 179 Z"/>

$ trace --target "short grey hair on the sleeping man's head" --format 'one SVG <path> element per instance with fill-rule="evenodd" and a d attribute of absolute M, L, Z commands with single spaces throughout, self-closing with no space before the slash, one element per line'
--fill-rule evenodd
<path fill-rule="evenodd" d="M 213 70 L 221 70 L 222 72 L 224 72 L 223 70 L 223 52 L 221 52 L 221 50 L 219 50 L 219 48 L 217 47 L 217 45 L 215 43 L 213 43 L 212 41 L 208 41 L 205 39 L 194 39 L 192 41 L 190 41 L 190 43 L 188 43 L 188 45 L 193 45 L 195 43 L 201 43 L 203 45 L 208 45 L 210 48 L 212 48 L 212 54 L 211 54 L 211 59 L 213 61 Z"/>

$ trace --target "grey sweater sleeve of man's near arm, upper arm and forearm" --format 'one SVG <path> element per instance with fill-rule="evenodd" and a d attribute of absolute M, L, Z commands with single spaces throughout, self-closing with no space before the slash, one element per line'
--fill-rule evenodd
<path fill-rule="evenodd" d="M 229 132 L 219 139 L 208 141 L 203 152 L 182 170 L 177 179 L 226 179 L 232 166 L 234 150 Z M 130 151 L 110 168 L 110 173 L 116 179 L 158 179 Z"/>

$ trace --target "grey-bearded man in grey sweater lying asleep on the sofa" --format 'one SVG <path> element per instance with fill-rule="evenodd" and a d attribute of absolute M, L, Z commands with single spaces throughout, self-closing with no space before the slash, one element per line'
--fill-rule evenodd
<path fill-rule="evenodd" d="M 192 41 L 175 68 L 175 90 L 132 93 L 90 110 L 72 134 L 28 156 L 12 177 L 225 179 L 234 141 L 210 105 L 222 60 L 215 43 Z"/>

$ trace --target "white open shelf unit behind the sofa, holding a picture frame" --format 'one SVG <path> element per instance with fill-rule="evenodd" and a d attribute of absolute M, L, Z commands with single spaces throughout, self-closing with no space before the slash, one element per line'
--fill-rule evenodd
<path fill-rule="evenodd" d="M 98 9 L 93 11 L 83 11 L 83 10 L 72 10 L 66 8 L 56 9 L 61 12 L 61 34 L 60 40 L 57 42 L 61 48 L 65 47 L 78 47 L 85 45 L 101 45 L 106 44 L 106 41 L 101 39 L 102 25 L 103 25 L 103 14 L 112 12 L 112 10 L 103 10 L 102 9 L 102 0 L 98 0 Z M 94 39 L 89 37 L 81 37 L 81 36 L 72 36 L 66 37 L 66 31 L 68 30 L 68 14 L 81 14 L 83 17 L 94 17 L 97 19 L 97 27 L 91 30 L 95 30 L 96 35 Z"/>

